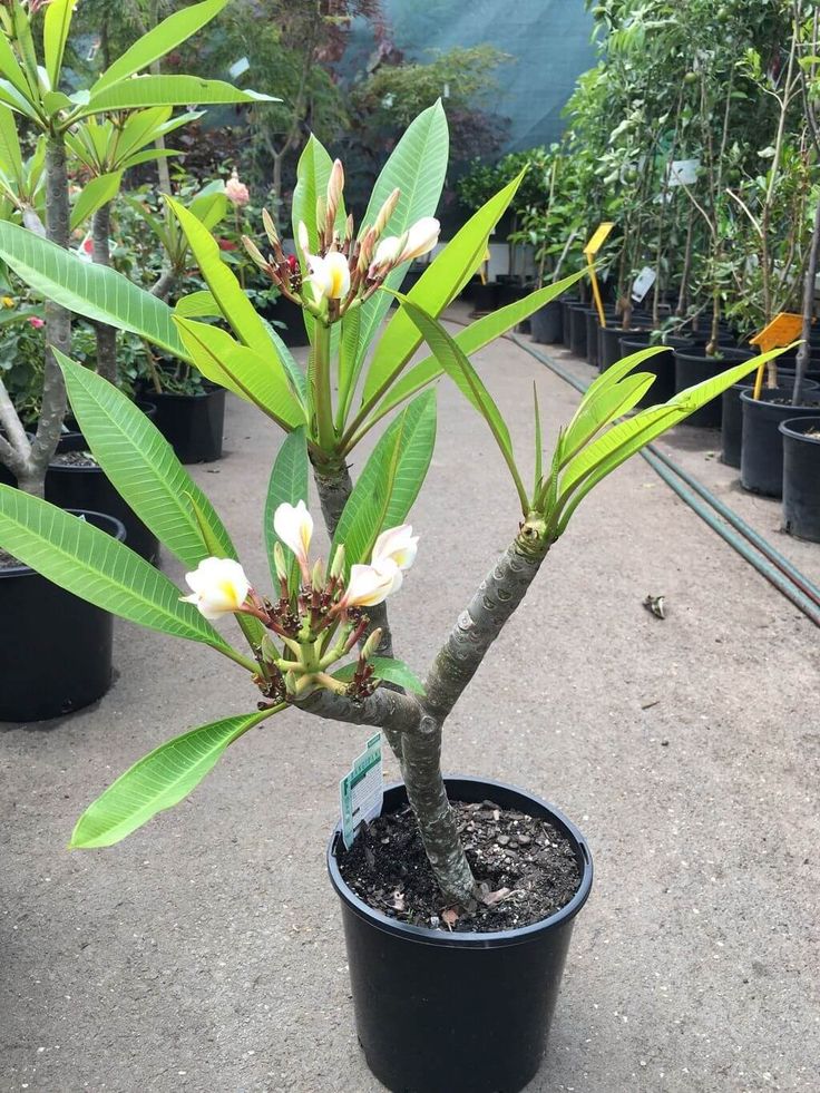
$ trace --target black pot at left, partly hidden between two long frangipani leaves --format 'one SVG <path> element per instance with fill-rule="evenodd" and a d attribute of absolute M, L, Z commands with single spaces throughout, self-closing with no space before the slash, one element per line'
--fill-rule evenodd
<path fill-rule="evenodd" d="M 58 452 L 82 451 L 86 440 L 72 432 L 61 438 Z M 159 558 L 159 540 L 123 500 L 100 467 L 72 467 L 51 463 L 46 475 L 46 500 L 65 509 L 107 513 L 125 528 L 125 541 L 146 562 Z"/>

